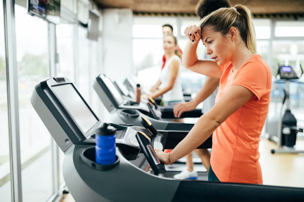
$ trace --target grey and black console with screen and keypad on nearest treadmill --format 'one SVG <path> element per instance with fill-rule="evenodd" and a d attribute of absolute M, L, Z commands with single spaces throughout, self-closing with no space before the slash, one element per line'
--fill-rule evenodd
<path fill-rule="evenodd" d="M 95 145 L 95 131 L 102 122 L 71 80 L 56 77 L 41 81 L 33 91 L 31 103 L 63 152 L 72 144 Z M 137 131 L 111 125 L 116 128 L 117 146 L 130 158 L 136 158 L 139 152 Z"/>

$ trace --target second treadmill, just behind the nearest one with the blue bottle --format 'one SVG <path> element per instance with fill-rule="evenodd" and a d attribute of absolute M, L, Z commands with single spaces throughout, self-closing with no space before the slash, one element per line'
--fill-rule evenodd
<path fill-rule="evenodd" d="M 98 82 L 99 81 L 99 82 Z M 117 83 L 119 85 L 119 83 Z M 117 124 L 132 124 L 133 126 L 142 126 L 141 119 L 145 118 L 147 121 L 151 122 L 155 128 L 158 130 L 175 130 L 175 131 L 190 131 L 194 124 L 190 123 L 182 123 L 182 122 L 172 122 L 172 121 L 164 121 L 158 115 L 158 112 L 155 108 L 150 104 L 146 103 L 149 108 L 149 113 L 146 113 L 143 110 L 139 109 L 124 109 L 119 107 L 119 102 L 123 103 L 123 98 L 127 96 L 127 94 L 122 94 L 119 96 L 120 92 L 127 92 L 127 89 L 122 87 L 121 90 L 119 88 L 115 88 L 115 82 L 112 82 L 109 77 L 105 75 L 99 75 L 97 77 L 96 82 L 94 83 L 94 89 L 100 97 L 103 104 L 106 106 L 107 110 L 110 113 L 111 122 Z M 116 86 L 117 87 L 117 86 Z M 153 101 L 151 101 L 153 102 Z M 118 108 L 111 108 L 111 106 L 118 106 Z M 210 144 L 210 148 L 212 148 L 212 135 L 208 138 L 208 142 Z M 207 171 L 205 167 L 201 165 L 201 159 L 199 157 L 193 158 L 194 163 L 199 165 L 200 171 Z M 186 169 L 186 158 L 179 159 L 175 166 L 167 166 L 168 171 L 181 172 Z"/>

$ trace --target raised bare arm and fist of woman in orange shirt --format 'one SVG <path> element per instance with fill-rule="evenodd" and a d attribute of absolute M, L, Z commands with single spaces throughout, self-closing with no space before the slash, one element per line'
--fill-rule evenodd
<path fill-rule="evenodd" d="M 189 40 L 182 55 L 183 66 L 199 74 L 221 78 L 222 73 L 216 62 L 212 60 L 198 60 L 196 49 L 201 40 L 201 28 L 193 25 L 187 27 L 184 32 Z"/>

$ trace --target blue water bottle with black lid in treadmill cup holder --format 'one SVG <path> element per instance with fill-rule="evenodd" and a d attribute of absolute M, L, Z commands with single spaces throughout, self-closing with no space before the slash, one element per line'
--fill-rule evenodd
<path fill-rule="evenodd" d="M 110 123 L 104 123 L 96 130 L 95 135 L 96 163 L 109 165 L 115 162 L 115 128 Z"/>

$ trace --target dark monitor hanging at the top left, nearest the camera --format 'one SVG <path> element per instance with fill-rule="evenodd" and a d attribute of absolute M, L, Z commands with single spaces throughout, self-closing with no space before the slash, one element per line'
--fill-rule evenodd
<path fill-rule="evenodd" d="M 28 0 L 28 12 L 51 23 L 60 24 L 60 0 Z"/>

